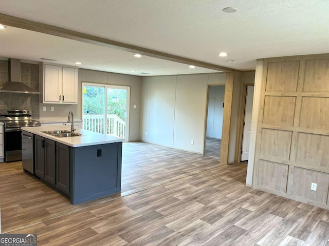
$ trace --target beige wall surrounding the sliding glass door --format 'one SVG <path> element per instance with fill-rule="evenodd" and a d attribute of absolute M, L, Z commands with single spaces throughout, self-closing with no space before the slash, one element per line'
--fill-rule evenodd
<path fill-rule="evenodd" d="M 129 141 L 139 140 L 141 77 L 126 74 L 79 69 L 78 117 L 80 118 L 82 118 L 82 82 L 130 86 Z M 137 106 L 136 109 L 134 109 L 134 105 Z"/>

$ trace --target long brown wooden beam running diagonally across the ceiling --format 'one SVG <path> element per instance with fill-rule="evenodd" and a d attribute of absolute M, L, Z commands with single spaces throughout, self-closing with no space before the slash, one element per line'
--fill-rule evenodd
<path fill-rule="evenodd" d="M 76 32 L 72 30 L 68 30 L 65 28 L 60 28 L 56 26 L 51 26 L 39 22 L 32 22 L 31 20 L 14 17 L 6 14 L 0 13 L 0 23 L 2 25 L 22 28 L 30 31 L 36 31 L 41 33 L 46 33 L 54 36 L 65 37 L 72 40 L 77 40 L 80 42 L 84 42 L 87 44 L 93 44 L 103 47 L 108 47 L 117 50 L 123 50 L 132 53 L 138 53 L 145 56 L 151 56 L 159 59 L 175 61 L 176 63 L 194 65 L 196 67 L 208 68 L 213 69 L 221 72 L 232 72 L 235 71 L 234 69 L 218 66 L 215 64 L 205 63 L 203 61 L 194 60 L 186 57 L 181 57 L 177 55 L 172 55 L 168 53 L 163 53 L 156 50 L 150 50 L 143 47 L 138 47 L 134 45 L 124 44 L 121 42 L 117 42 L 111 39 L 97 37 L 94 35 L 89 35 L 81 32 Z"/>

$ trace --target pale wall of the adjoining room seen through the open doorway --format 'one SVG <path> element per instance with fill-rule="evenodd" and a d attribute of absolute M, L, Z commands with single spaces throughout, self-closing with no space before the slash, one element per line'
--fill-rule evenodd
<path fill-rule="evenodd" d="M 210 86 L 208 97 L 207 137 L 222 139 L 225 86 Z"/>

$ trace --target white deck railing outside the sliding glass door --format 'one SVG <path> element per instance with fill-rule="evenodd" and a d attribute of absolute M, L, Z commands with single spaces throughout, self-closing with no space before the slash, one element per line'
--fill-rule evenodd
<path fill-rule="evenodd" d="M 83 129 L 105 133 L 120 138 L 125 138 L 125 122 L 116 114 L 108 114 L 106 117 L 106 131 L 104 131 L 104 115 L 84 114 L 83 115 Z"/>

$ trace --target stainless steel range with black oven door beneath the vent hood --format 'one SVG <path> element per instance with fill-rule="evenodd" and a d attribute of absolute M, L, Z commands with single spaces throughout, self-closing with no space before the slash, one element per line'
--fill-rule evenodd
<path fill-rule="evenodd" d="M 5 161 L 22 160 L 22 128 L 40 126 L 27 110 L 1 110 L 0 121 L 4 122 Z"/>

